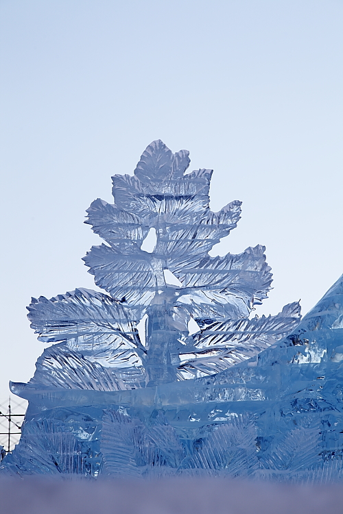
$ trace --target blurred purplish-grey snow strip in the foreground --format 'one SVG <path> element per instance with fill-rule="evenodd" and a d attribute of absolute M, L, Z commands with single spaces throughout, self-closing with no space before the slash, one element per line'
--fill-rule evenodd
<path fill-rule="evenodd" d="M 343 487 L 183 478 L 1 478 L 3 514 L 342 514 Z"/>

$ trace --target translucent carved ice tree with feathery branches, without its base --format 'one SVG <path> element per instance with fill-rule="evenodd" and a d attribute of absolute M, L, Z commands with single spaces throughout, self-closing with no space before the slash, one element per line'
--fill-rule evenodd
<path fill-rule="evenodd" d="M 185 174 L 188 154 L 154 141 L 134 176 L 113 177 L 114 204 L 97 199 L 88 208 L 86 223 L 106 244 L 92 247 L 84 262 L 109 294 L 76 289 L 32 299 L 29 319 L 38 339 L 58 344 L 38 358 L 31 386 L 115 391 L 213 375 L 296 326 L 297 302 L 277 316 L 249 318 L 272 282 L 265 247 L 209 256 L 236 227 L 241 202 L 212 212 L 212 171 Z M 142 249 L 150 231 L 156 233 L 151 253 Z M 166 270 L 180 286 L 166 282 Z M 191 318 L 199 330 L 189 335 Z"/>

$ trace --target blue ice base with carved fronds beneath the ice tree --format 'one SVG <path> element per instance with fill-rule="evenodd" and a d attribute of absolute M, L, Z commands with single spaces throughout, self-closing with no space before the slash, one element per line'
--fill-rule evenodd
<path fill-rule="evenodd" d="M 12 384 L 29 408 L 2 472 L 340 480 L 342 315 L 343 278 L 294 334 L 211 377 L 131 391 Z"/>

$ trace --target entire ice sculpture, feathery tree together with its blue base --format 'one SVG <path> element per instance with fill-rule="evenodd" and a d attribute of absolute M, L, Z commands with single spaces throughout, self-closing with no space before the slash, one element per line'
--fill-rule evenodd
<path fill-rule="evenodd" d="M 272 281 L 265 248 L 209 256 L 241 202 L 211 212 L 211 171 L 188 166 L 154 141 L 113 177 L 115 203 L 91 204 L 106 244 L 84 261 L 109 294 L 32 299 L 32 328 L 55 344 L 11 384 L 29 407 L 2 473 L 342 478 L 343 279 L 301 323 L 297 302 L 250 317 Z"/>

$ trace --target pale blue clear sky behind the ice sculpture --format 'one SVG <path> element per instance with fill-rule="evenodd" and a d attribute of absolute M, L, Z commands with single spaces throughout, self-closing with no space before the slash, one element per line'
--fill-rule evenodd
<path fill-rule="evenodd" d="M 343 272 L 342 49 L 342 0 L 0 1 L 0 399 L 45 347 L 25 306 L 97 289 L 85 210 L 157 138 L 214 169 L 212 210 L 243 201 L 211 254 L 266 246 L 258 312 L 318 302 Z"/>

